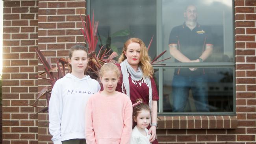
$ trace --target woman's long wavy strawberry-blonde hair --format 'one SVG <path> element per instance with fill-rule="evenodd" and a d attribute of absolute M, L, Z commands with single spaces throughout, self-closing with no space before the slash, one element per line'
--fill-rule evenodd
<path fill-rule="evenodd" d="M 139 58 L 139 65 L 141 66 L 142 72 L 144 76 L 152 77 L 154 70 L 152 65 L 150 64 L 150 57 L 148 56 L 148 50 L 147 47 L 145 46 L 144 42 L 141 41 L 139 38 L 130 38 L 124 43 L 124 47 L 122 49 L 122 54 L 119 57 L 119 63 L 127 59 L 125 56 L 124 52 L 126 52 L 127 47 L 130 43 L 135 42 L 138 43 L 141 46 L 141 52 L 140 52 L 140 58 Z"/>

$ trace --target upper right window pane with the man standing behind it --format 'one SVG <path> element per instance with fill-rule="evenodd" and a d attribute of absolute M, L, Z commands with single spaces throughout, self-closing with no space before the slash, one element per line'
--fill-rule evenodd
<path fill-rule="evenodd" d="M 168 45 L 176 44 L 189 60 L 203 57 L 205 62 L 234 62 L 232 9 L 232 0 L 162 0 L 162 50 L 168 51 L 165 57 L 171 55 Z M 210 50 L 210 44 L 212 53 L 202 56 Z M 172 52 L 173 58 L 164 63 L 182 61 Z"/>

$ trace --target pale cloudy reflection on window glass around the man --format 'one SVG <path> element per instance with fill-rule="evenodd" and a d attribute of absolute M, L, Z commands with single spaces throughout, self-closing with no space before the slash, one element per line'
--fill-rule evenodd
<path fill-rule="evenodd" d="M 204 62 L 234 62 L 232 0 L 162 0 L 162 50 L 169 51 L 170 33 L 176 26 L 186 22 L 186 13 L 184 11 L 189 5 L 196 7 L 197 15 L 195 17 L 197 16 L 197 23 L 207 31 L 210 31 L 213 51 L 207 59 L 204 59 Z M 195 52 L 193 50 L 191 52 Z M 169 56 L 170 54 L 165 54 L 165 57 Z M 175 59 L 171 59 L 165 63 L 174 62 Z"/>

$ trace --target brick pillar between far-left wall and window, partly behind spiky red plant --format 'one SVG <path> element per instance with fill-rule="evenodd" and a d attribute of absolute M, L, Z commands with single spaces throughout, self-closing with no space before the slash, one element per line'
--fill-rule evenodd
<path fill-rule="evenodd" d="M 85 16 L 85 0 L 39 0 L 38 16 L 38 48 L 46 57 L 52 58 L 54 63 L 57 57 L 68 57 L 69 48 L 76 41 L 84 43 L 80 32 L 82 23 L 80 13 Z M 53 61 L 54 60 L 54 61 Z M 41 63 L 38 72 L 42 72 Z M 38 90 L 48 85 L 42 79 L 38 80 Z M 42 101 L 46 104 L 45 101 Z M 51 143 L 52 136 L 48 131 L 48 114 L 38 115 L 39 144 Z"/>

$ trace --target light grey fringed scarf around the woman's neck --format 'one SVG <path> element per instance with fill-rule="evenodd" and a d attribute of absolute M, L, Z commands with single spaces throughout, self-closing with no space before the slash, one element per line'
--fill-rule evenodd
<path fill-rule="evenodd" d="M 132 66 L 128 63 L 127 59 L 125 59 L 121 64 L 121 71 L 122 71 L 122 83 L 124 84 L 124 88 L 126 90 L 127 96 L 130 97 L 130 85 L 129 85 L 129 79 L 128 79 L 128 72 L 131 75 L 131 78 L 135 81 L 139 81 L 143 78 L 143 73 L 141 66 L 138 67 L 137 72 L 134 71 Z M 127 71 L 128 70 L 128 71 Z M 151 81 L 148 76 L 144 76 L 144 79 L 148 85 L 149 89 L 149 101 L 148 105 L 150 108 L 150 111 L 152 111 L 152 87 L 151 87 Z M 151 114 L 150 114 L 150 121 L 151 121 Z"/>

